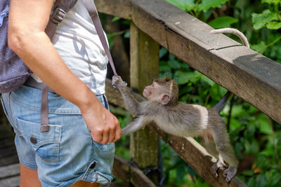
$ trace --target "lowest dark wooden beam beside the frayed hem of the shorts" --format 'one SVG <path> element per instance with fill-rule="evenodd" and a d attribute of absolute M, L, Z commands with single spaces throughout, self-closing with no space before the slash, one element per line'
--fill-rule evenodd
<path fill-rule="evenodd" d="M 145 176 L 141 169 L 131 164 L 131 162 L 124 160 L 124 158 L 115 155 L 115 162 L 112 169 L 112 174 L 118 176 L 119 179 L 123 181 L 129 181 L 133 184 L 133 186 L 151 186 L 155 187 L 155 184 L 148 179 L 148 176 Z M 129 186 L 129 185 L 128 185 Z"/>

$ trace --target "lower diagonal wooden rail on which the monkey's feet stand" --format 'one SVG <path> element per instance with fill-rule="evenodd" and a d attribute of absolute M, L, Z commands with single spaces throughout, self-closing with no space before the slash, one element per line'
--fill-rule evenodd
<path fill-rule="evenodd" d="M 107 85 L 111 85 L 110 80 L 107 80 Z M 122 103 L 122 95 L 117 92 L 114 94 L 114 99 L 111 99 L 111 96 L 108 95 L 108 93 L 115 92 L 114 90 L 115 89 L 112 88 L 112 86 L 106 87 L 108 101 L 111 104 L 117 105 Z M 140 95 L 138 95 L 138 97 L 141 98 Z M 124 108 L 124 104 L 119 106 Z M 216 161 L 216 159 L 209 155 L 207 151 L 205 151 L 204 148 L 202 148 L 202 146 L 200 146 L 200 144 L 198 144 L 194 139 L 185 139 L 166 134 L 161 130 L 158 130 L 154 125 L 149 125 L 149 127 L 160 138 L 166 141 L 166 143 L 169 144 L 169 146 L 190 165 L 190 167 L 195 169 L 195 171 L 212 186 L 246 186 L 237 177 L 235 177 L 230 183 L 226 183 L 221 170 L 218 172 L 218 179 L 215 179 L 211 173 L 211 165 Z"/>

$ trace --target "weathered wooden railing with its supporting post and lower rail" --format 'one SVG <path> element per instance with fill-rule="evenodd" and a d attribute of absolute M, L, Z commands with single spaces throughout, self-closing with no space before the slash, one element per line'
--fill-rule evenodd
<path fill-rule="evenodd" d="M 150 84 L 152 78 L 157 78 L 161 45 L 192 68 L 281 123 L 281 65 L 277 62 L 223 34 L 211 34 L 212 28 L 209 25 L 164 0 L 95 2 L 99 12 L 131 20 L 131 87 L 142 90 Z M 111 88 L 109 80 L 106 92 L 110 103 L 124 107 L 122 97 Z M 153 124 L 150 129 L 211 186 L 245 186 L 237 178 L 226 183 L 221 172 L 218 180 L 215 179 L 211 174 L 211 165 L 215 159 L 193 139 L 171 136 Z M 140 168 L 157 165 L 155 135 L 150 130 L 133 134 L 130 154 Z M 122 158 L 116 160 L 119 160 L 116 163 L 125 163 Z M 120 168 L 115 167 L 114 173 L 119 176 L 117 169 Z M 139 173 L 136 172 L 137 168 L 129 166 L 126 169 L 126 172 L 135 174 L 126 175 L 126 179 L 138 186 L 136 178 L 132 178 Z M 153 177 L 152 181 L 155 181 Z"/>

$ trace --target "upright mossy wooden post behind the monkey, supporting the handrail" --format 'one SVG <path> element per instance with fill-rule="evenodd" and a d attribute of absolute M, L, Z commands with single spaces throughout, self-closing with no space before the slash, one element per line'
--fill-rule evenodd
<path fill-rule="evenodd" d="M 159 44 L 131 22 L 130 51 L 131 87 L 143 92 L 152 79 L 159 77 Z M 141 169 L 157 167 L 158 137 L 147 127 L 131 134 L 130 151 L 131 160 Z M 157 183 L 157 173 L 150 179 Z"/>

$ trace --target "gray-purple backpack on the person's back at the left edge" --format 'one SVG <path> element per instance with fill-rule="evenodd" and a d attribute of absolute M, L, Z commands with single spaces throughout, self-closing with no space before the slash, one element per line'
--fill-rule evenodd
<path fill-rule="evenodd" d="M 76 4 L 77 0 L 57 0 L 55 1 L 53 14 L 50 17 L 46 33 L 53 37 L 56 26 L 61 22 L 67 11 Z M 8 13 L 10 10 L 10 1 L 0 1 L 0 93 L 12 92 L 20 87 L 32 71 L 24 62 L 13 53 L 8 47 Z"/>

